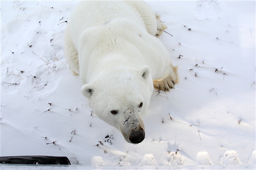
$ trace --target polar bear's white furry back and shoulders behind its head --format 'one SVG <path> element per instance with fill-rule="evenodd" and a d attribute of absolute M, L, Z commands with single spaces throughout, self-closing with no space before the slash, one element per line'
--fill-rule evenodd
<path fill-rule="evenodd" d="M 78 58 L 79 68 L 73 70 L 79 70 L 84 84 L 116 65 L 148 65 L 153 79 L 170 72 L 169 53 L 154 36 L 156 17 L 143 1 L 82 1 L 67 27 L 78 52 L 73 58 Z"/>

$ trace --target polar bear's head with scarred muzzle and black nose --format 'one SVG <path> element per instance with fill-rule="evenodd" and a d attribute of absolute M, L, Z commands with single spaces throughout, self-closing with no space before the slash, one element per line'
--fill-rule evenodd
<path fill-rule="evenodd" d="M 93 112 L 120 130 L 130 143 L 137 144 L 145 138 L 142 116 L 153 91 L 150 72 L 148 66 L 114 67 L 101 71 L 81 88 Z"/>

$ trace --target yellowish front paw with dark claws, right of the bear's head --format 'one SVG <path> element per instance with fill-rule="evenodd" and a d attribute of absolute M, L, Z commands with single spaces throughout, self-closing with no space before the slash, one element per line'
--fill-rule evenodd
<path fill-rule="evenodd" d="M 172 66 L 172 65 L 171 65 Z M 173 67 L 165 79 L 156 79 L 153 80 L 154 88 L 157 89 L 158 91 L 169 91 L 170 89 L 174 88 L 174 85 L 179 82 L 178 80 L 178 75 L 177 75 L 177 66 Z"/>

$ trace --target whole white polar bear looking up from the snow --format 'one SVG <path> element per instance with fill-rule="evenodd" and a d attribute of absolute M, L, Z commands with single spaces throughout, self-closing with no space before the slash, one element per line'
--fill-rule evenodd
<path fill-rule="evenodd" d="M 93 112 L 138 144 L 153 88 L 169 91 L 177 67 L 157 38 L 166 28 L 143 1 L 82 1 L 71 13 L 64 52 Z"/>

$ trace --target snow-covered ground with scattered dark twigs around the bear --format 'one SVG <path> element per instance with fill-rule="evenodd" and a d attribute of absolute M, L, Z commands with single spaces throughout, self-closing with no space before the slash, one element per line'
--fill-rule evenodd
<path fill-rule="evenodd" d="M 168 26 L 160 40 L 180 83 L 153 93 L 136 145 L 95 116 L 67 66 L 63 34 L 77 3 L 1 0 L 0 156 L 255 168 L 255 1 L 147 1 Z"/>

